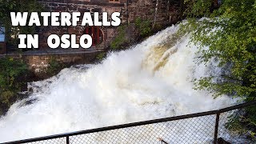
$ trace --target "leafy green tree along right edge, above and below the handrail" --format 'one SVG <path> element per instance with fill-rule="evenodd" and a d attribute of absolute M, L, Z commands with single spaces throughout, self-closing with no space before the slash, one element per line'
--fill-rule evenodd
<path fill-rule="evenodd" d="M 209 46 L 209 50 L 199 50 L 201 62 L 217 58 L 226 73 L 221 78 L 210 76 L 196 80 L 196 89 L 211 90 L 216 97 L 228 94 L 245 102 L 255 101 L 256 1 L 222 0 L 217 10 L 211 9 L 211 2 L 186 0 L 189 20 L 182 30 L 191 31 L 192 42 Z M 206 18 L 198 21 L 202 16 Z M 231 119 L 229 124 L 230 130 L 249 133 L 255 139 L 256 106 L 246 109 L 243 116 Z"/>

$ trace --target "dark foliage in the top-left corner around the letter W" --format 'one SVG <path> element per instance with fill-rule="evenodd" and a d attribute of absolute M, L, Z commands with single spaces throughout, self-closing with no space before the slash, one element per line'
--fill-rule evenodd
<path fill-rule="evenodd" d="M 36 30 L 36 26 L 11 26 L 10 12 L 41 12 L 42 10 L 42 5 L 36 0 L 0 0 L 0 26 L 6 28 L 6 42 L 16 44 L 18 34 L 34 34 Z"/>

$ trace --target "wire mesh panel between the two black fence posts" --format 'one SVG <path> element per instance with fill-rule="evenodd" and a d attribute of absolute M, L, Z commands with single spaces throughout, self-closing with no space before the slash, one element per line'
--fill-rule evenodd
<path fill-rule="evenodd" d="M 205 119 L 207 119 L 205 121 Z M 70 137 L 70 143 L 202 143 L 214 138 L 214 115 Z"/>

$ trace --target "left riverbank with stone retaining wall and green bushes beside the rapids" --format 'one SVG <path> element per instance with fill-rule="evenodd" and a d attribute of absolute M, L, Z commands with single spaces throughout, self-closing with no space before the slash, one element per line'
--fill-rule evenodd
<path fill-rule="evenodd" d="M 30 50 L 22 53 L 1 54 L 2 72 L 0 94 L 0 116 L 10 106 L 27 97 L 29 82 L 38 82 L 58 74 L 62 69 L 81 64 L 98 62 L 98 55 L 104 50 Z M 17 63 L 21 64 L 18 65 Z M 3 66 L 5 65 L 5 66 Z M 24 70 L 20 73 L 20 67 Z M 1 69 L 0 69 L 1 70 Z M 14 74 L 14 75 L 12 75 Z"/>

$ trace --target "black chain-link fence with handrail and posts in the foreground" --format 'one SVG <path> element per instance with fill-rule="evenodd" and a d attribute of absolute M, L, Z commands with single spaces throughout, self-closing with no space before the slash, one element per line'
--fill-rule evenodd
<path fill-rule="evenodd" d="M 235 123 L 240 120 L 241 124 L 245 109 L 255 105 L 248 102 L 222 110 L 7 143 L 255 143 L 238 131 Z"/>

